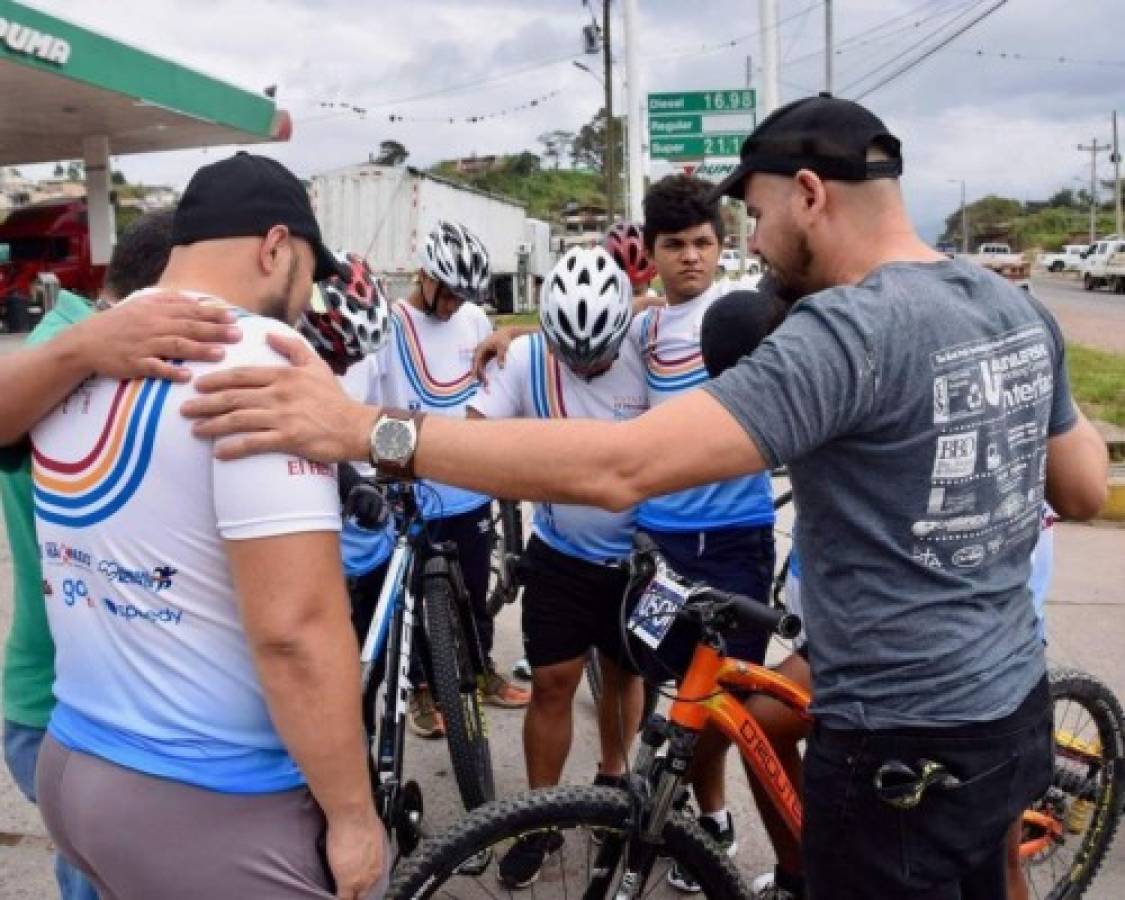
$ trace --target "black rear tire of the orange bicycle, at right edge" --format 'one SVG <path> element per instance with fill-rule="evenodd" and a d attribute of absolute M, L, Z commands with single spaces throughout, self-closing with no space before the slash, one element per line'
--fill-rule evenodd
<path fill-rule="evenodd" d="M 1081 830 L 1079 846 L 1073 854 L 1073 861 L 1061 876 L 1055 878 L 1053 867 L 1047 872 L 1047 864 L 1053 860 L 1052 852 L 1043 858 L 1033 857 L 1025 861 L 1024 873 L 1034 888 L 1034 897 L 1044 900 L 1078 900 L 1086 893 L 1098 870 L 1105 862 L 1106 854 L 1113 843 L 1125 806 L 1125 713 L 1114 693 L 1089 673 L 1072 668 L 1051 669 L 1051 703 L 1055 716 L 1055 744 L 1068 727 L 1066 712 L 1063 708 L 1060 720 L 1060 705 L 1072 703 L 1084 711 L 1096 728 L 1100 755 L 1097 759 L 1088 759 L 1087 775 L 1083 784 L 1096 782 L 1092 802 L 1089 811 L 1089 827 Z M 1065 750 L 1063 752 L 1065 754 Z M 1073 804 L 1074 794 L 1087 789 L 1076 784 L 1074 770 L 1069 764 L 1060 764 L 1060 754 L 1055 753 L 1055 775 L 1047 795 L 1036 804 L 1040 809 L 1051 809 L 1052 796 L 1063 798 L 1062 802 Z M 1063 843 L 1068 839 L 1063 835 Z M 1072 839 L 1072 838 L 1071 838 Z M 1053 864 L 1052 864 L 1053 866 Z M 1042 867 L 1042 871 L 1041 868 Z M 1048 874 L 1046 893 L 1037 884 L 1043 882 L 1042 875 Z"/>

